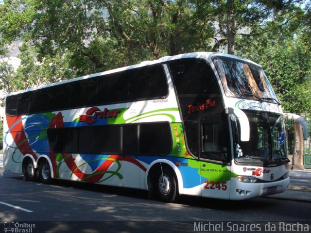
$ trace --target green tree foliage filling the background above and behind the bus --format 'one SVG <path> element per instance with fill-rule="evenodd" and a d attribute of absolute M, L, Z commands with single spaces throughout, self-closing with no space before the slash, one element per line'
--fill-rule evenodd
<path fill-rule="evenodd" d="M 285 111 L 311 112 L 310 9 L 310 0 L 4 0 L 0 55 L 23 46 L 21 66 L 13 75 L 2 62 L 0 79 L 15 91 L 231 41 L 264 67 Z"/>

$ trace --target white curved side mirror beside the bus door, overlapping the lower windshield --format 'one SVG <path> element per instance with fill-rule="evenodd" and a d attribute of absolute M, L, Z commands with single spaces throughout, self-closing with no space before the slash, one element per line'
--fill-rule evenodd
<path fill-rule="evenodd" d="M 249 122 L 246 114 L 238 108 L 226 108 L 226 114 L 233 114 L 237 117 L 239 123 L 240 123 L 240 132 L 241 132 L 241 138 L 240 140 L 242 142 L 248 142 L 249 141 Z"/>

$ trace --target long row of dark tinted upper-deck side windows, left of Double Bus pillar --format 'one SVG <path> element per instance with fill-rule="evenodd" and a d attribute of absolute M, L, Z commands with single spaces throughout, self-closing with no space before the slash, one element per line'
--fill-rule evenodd
<path fill-rule="evenodd" d="M 99 104 L 158 99 L 168 95 L 162 65 L 63 83 L 17 95 L 17 107 L 9 98 L 9 115 L 79 108 Z"/>

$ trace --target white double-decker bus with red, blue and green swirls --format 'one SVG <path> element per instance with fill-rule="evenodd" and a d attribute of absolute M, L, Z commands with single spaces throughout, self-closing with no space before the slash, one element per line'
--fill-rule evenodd
<path fill-rule="evenodd" d="M 9 94 L 4 168 L 28 181 L 148 190 L 167 202 L 255 198 L 289 185 L 283 118 L 254 62 L 163 57 Z"/>

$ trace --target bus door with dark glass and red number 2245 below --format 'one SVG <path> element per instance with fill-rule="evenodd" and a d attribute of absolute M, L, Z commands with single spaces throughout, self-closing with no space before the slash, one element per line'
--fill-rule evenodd
<path fill-rule="evenodd" d="M 228 122 L 227 114 L 211 114 L 201 118 L 202 197 L 229 198 L 231 143 Z"/>

